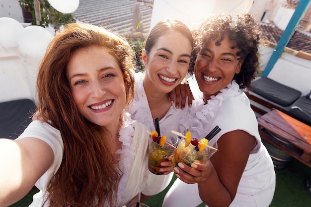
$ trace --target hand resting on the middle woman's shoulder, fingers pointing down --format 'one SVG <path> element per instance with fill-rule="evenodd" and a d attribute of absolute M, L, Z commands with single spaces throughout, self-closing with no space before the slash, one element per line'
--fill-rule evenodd
<path fill-rule="evenodd" d="M 175 96 L 176 95 L 176 96 Z M 190 86 L 188 85 L 188 82 L 185 82 L 183 84 L 177 85 L 171 92 L 170 92 L 170 101 L 173 104 L 174 103 L 174 97 L 176 97 L 176 108 L 180 108 L 183 110 L 186 105 L 186 100 L 188 97 L 188 106 L 192 106 L 192 101 L 194 100 L 194 97 L 192 95 L 192 92 L 190 90 Z"/>

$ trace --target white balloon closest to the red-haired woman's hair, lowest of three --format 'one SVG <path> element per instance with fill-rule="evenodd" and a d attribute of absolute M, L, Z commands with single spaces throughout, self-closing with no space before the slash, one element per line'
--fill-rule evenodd
<path fill-rule="evenodd" d="M 52 37 L 52 34 L 43 27 L 36 25 L 25 27 L 18 38 L 19 50 L 31 57 L 41 58 Z"/>

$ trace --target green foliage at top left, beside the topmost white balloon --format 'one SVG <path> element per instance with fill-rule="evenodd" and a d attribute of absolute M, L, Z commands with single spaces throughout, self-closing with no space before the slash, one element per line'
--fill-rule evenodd
<path fill-rule="evenodd" d="M 31 12 L 33 20 L 31 25 L 39 25 L 42 27 L 48 27 L 50 24 L 55 25 L 55 29 L 59 29 L 61 25 L 65 25 L 72 21 L 72 14 L 64 14 L 62 12 L 54 9 L 48 0 L 39 0 L 40 2 L 40 10 L 41 10 L 41 21 L 39 24 L 36 22 L 35 18 L 35 8 L 34 8 L 34 0 L 18 0 L 19 5 L 27 9 Z"/>

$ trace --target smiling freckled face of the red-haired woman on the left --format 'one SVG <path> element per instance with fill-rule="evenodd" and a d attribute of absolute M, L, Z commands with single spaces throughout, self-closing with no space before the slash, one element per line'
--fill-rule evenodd
<path fill-rule="evenodd" d="M 66 77 L 82 116 L 108 130 L 116 129 L 126 93 L 115 58 L 100 46 L 78 49 L 68 63 Z"/>

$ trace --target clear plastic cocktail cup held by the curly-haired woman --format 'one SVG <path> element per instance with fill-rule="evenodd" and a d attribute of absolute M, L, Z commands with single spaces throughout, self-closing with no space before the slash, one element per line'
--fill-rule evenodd
<path fill-rule="evenodd" d="M 191 138 L 197 138 L 199 141 L 208 134 L 207 131 L 198 128 L 198 127 L 189 127 L 184 131 L 184 135 L 190 131 Z M 196 151 L 194 149 L 195 146 L 189 144 L 185 147 L 185 138 L 181 138 L 179 144 L 175 150 L 174 156 L 172 158 L 172 168 L 178 166 L 179 162 L 183 162 L 188 166 L 191 166 L 193 162 L 204 164 L 207 160 L 215 154 L 217 150 L 211 149 L 209 147 L 205 147 L 202 151 Z M 209 140 L 208 145 L 217 149 L 217 142 L 214 138 Z M 176 173 L 176 172 L 175 172 Z"/>

